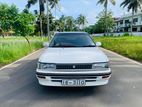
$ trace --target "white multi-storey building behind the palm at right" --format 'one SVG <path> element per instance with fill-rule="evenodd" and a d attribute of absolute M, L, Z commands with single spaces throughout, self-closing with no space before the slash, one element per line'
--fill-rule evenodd
<path fill-rule="evenodd" d="M 127 14 L 121 18 L 115 18 L 115 32 L 130 32 L 132 23 L 132 14 Z M 142 12 L 134 14 L 133 32 L 142 32 Z"/>

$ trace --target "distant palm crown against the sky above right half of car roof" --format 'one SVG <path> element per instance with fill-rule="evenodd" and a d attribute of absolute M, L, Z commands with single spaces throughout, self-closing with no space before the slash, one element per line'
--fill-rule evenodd
<path fill-rule="evenodd" d="M 87 23 L 86 16 L 80 14 L 79 17 L 77 18 L 77 24 L 79 25 L 79 29 L 83 29 L 85 24 Z M 81 28 L 82 26 L 82 28 Z"/>

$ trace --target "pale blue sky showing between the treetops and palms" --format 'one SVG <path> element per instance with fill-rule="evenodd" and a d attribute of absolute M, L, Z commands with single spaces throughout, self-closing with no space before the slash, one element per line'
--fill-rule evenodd
<path fill-rule="evenodd" d="M 114 17 L 121 17 L 123 14 L 127 14 L 126 9 L 120 7 L 123 0 L 116 0 L 116 5 L 113 6 L 109 3 L 108 10 L 113 12 Z M 9 5 L 15 4 L 19 10 L 25 8 L 27 0 L 0 0 L 1 3 L 7 3 Z M 57 18 L 61 15 L 78 17 L 79 14 L 83 14 L 87 17 L 88 25 L 94 24 L 97 19 L 96 16 L 104 9 L 102 5 L 98 4 L 98 0 L 60 0 L 60 11 L 57 11 Z M 32 6 L 31 11 L 37 9 L 38 5 Z M 53 14 L 55 11 L 53 10 Z"/>

